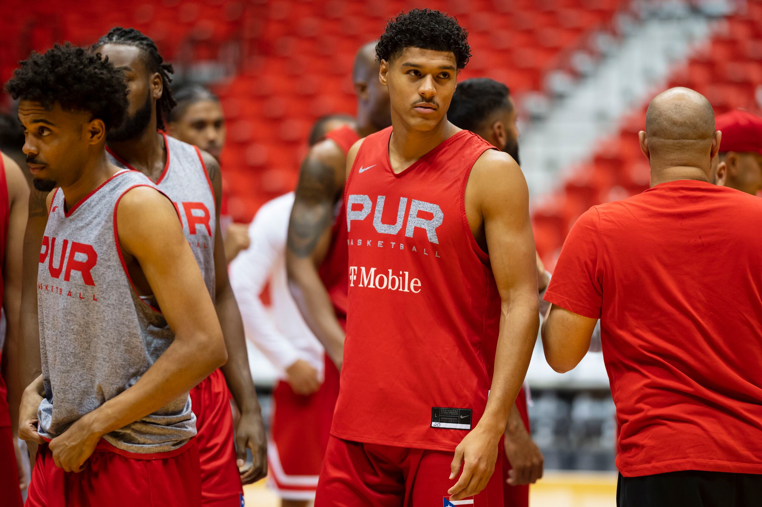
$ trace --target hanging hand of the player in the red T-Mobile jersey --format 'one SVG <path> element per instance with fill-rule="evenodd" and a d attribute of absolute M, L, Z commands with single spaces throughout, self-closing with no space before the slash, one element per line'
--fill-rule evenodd
<path fill-rule="evenodd" d="M 498 460 L 498 444 L 500 433 L 488 431 L 481 424 L 460 441 L 450 464 L 450 479 L 455 478 L 461 463 L 463 473 L 455 486 L 447 490 L 450 500 L 474 496 L 487 486 Z"/>

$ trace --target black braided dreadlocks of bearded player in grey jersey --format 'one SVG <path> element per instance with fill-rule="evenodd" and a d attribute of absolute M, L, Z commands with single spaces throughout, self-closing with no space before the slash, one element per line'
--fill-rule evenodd
<path fill-rule="evenodd" d="M 174 74 L 174 68 L 171 63 L 166 63 L 161 53 L 158 52 L 156 43 L 151 37 L 143 34 L 135 28 L 114 27 L 103 37 L 94 43 L 92 50 L 98 50 L 105 44 L 122 44 L 124 46 L 134 46 L 142 50 L 146 67 L 149 72 L 158 72 L 162 76 L 163 91 L 162 96 L 156 101 L 156 127 L 158 130 L 165 130 L 164 119 L 169 117 L 169 111 L 177 105 L 172 96 L 169 84 L 172 82 L 171 74 Z"/>

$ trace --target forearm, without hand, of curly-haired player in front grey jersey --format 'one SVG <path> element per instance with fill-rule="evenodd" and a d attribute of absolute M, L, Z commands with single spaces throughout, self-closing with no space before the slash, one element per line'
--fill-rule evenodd
<path fill-rule="evenodd" d="M 85 417 L 99 435 L 123 428 L 188 393 L 221 365 L 219 357 L 207 342 L 175 338 L 133 387 Z"/>

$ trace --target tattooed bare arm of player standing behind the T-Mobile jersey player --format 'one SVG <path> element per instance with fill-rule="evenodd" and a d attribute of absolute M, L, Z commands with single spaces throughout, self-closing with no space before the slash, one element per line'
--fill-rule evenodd
<path fill-rule="evenodd" d="M 331 140 L 312 146 L 302 162 L 288 228 L 289 287 L 309 329 L 341 367 L 341 328 L 318 269 L 331 245 L 334 207 L 344 190 L 344 153 Z"/>

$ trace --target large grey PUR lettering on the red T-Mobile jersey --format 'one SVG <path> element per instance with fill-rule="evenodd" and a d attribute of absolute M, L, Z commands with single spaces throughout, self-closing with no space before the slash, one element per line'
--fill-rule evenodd
<path fill-rule="evenodd" d="M 399 207 L 397 207 L 397 220 L 395 223 L 382 223 L 381 217 L 383 216 L 383 205 L 386 201 L 385 195 L 379 195 L 376 197 L 376 211 L 373 213 L 373 227 L 377 233 L 381 234 L 397 234 L 402 229 L 402 223 L 405 223 L 405 236 L 408 238 L 413 237 L 413 232 L 416 227 L 420 227 L 426 231 L 426 237 L 432 243 L 439 243 L 437 238 L 437 227 L 442 225 L 444 220 L 444 213 L 442 208 L 437 204 L 427 203 L 424 201 L 418 201 L 412 199 L 410 203 L 410 210 L 408 211 L 407 220 L 405 220 L 405 208 L 408 207 L 408 198 L 399 198 Z M 361 204 L 362 209 L 353 210 L 354 204 Z M 370 215 L 370 210 L 373 208 L 373 203 L 370 201 L 370 196 L 363 194 L 351 194 L 347 196 L 347 231 L 352 230 L 352 220 L 365 220 Z M 431 213 L 431 218 L 418 217 L 419 212 Z"/>

